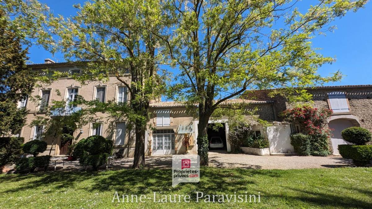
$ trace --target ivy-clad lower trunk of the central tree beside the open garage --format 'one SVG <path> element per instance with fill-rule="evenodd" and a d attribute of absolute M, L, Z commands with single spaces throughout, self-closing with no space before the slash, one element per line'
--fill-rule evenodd
<path fill-rule="evenodd" d="M 198 124 L 198 138 L 196 139 L 198 144 L 198 155 L 200 156 L 200 165 L 208 165 L 208 121 L 209 115 L 199 113 L 199 124 Z"/>

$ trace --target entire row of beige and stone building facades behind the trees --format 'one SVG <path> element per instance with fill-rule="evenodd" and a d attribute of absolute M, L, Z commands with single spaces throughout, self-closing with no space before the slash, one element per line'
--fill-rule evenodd
<path fill-rule="evenodd" d="M 78 66 L 62 62 L 54 63 L 52 60 L 45 60 L 44 64 L 29 65 L 33 70 L 40 71 L 44 69 L 52 71 L 62 71 L 71 74 L 81 73 Z M 130 74 L 122 75 L 122 79 L 130 83 Z M 58 96 L 56 90 L 59 90 L 61 96 Z M 337 145 L 345 144 L 340 132 L 350 126 L 362 126 L 372 131 L 372 85 L 359 86 L 328 86 L 318 87 L 308 90 L 313 95 L 313 106 L 318 108 L 329 108 L 333 110 L 332 117 L 327 121 L 328 126 L 333 128 L 333 138 L 330 141 L 330 147 L 334 154 L 338 154 Z M 288 123 L 282 121 L 279 113 L 292 107 L 284 97 L 268 97 L 269 90 L 247 91 L 243 95 L 244 99 L 232 99 L 225 103 L 245 103 L 248 109 L 255 110 L 257 118 L 271 122 L 272 125 L 263 128 L 260 125 L 254 125 L 256 135 L 265 135 L 270 142 L 271 153 L 294 152 L 290 144 L 290 135 L 294 132 Z M 86 100 L 98 99 L 101 102 L 115 100 L 116 102 L 130 102 L 129 92 L 126 87 L 115 77 L 110 77 L 106 83 L 99 81 L 90 82 L 81 85 L 73 78 L 67 76 L 52 82 L 50 85 L 37 87 L 32 96 L 40 96 L 41 101 L 36 104 L 31 100 L 19 102 L 20 107 L 26 107 L 29 110 L 26 125 L 22 128 L 20 136 L 25 138 L 25 142 L 33 139 L 40 139 L 44 129 L 42 126 L 30 127 L 29 124 L 36 116 L 45 116 L 44 107 L 52 105 L 53 100 L 73 100 L 77 95 Z M 176 102 L 160 102 L 154 100 L 150 103 L 150 112 L 152 117 L 150 124 L 153 129 L 149 129 L 145 135 L 145 155 L 164 155 L 164 154 L 183 154 L 186 147 L 182 144 L 184 138 L 190 139 L 189 152 L 197 153 L 196 138 L 198 136 L 198 119 L 187 113 L 186 107 Z M 107 139 L 112 139 L 114 149 L 122 149 L 125 157 L 133 157 L 135 149 L 134 130 L 127 128 L 126 118 L 111 119 L 106 113 L 97 113 L 99 119 L 94 120 L 81 129 L 76 130 L 74 139 L 79 141 L 92 135 L 102 135 Z M 228 142 L 228 119 L 210 120 L 209 123 L 221 123 L 223 127 L 215 131 L 208 129 L 208 136 L 220 137 L 225 149 L 230 151 Z M 42 138 L 48 144 L 47 151 L 44 154 L 65 155 L 71 142 L 62 142 L 57 138 L 52 146 L 52 137 Z"/>

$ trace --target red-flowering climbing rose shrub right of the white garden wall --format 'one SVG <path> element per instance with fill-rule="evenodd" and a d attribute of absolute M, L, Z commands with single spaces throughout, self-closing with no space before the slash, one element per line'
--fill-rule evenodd
<path fill-rule="evenodd" d="M 327 118 L 332 115 L 332 110 L 318 109 L 311 106 L 295 107 L 283 111 L 284 120 L 290 123 L 298 123 L 301 126 L 303 136 L 292 136 L 291 144 L 300 155 L 327 156 L 330 154 L 328 141 L 331 137 L 332 130 L 323 127 Z M 305 140 L 306 142 L 301 142 Z M 301 146 L 299 146 L 301 145 Z M 302 146 L 306 145 L 306 146 Z M 306 147 L 306 150 L 302 150 Z"/>

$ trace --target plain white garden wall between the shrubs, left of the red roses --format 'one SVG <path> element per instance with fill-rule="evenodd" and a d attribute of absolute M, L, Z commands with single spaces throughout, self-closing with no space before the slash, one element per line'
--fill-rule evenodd
<path fill-rule="evenodd" d="M 270 144 L 270 153 L 294 152 L 291 145 L 291 127 L 289 124 L 277 124 L 266 129 Z"/>

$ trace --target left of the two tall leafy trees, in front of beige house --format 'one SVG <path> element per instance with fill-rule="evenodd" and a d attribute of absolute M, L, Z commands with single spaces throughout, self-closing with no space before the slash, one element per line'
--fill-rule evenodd
<path fill-rule="evenodd" d="M 135 127 L 133 167 L 144 167 L 149 103 L 160 97 L 164 86 L 156 63 L 169 25 L 165 6 L 160 0 L 94 0 L 75 7 L 76 16 L 50 20 L 51 32 L 61 37 L 57 46 L 68 61 L 83 62 L 82 75 L 74 79 L 84 84 L 114 76 L 127 87 L 128 103 L 110 101 L 98 107 L 107 107 L 116 118 L 126 117 Z"/>

